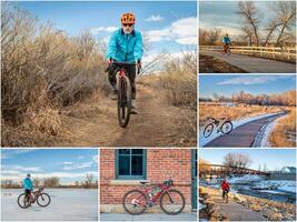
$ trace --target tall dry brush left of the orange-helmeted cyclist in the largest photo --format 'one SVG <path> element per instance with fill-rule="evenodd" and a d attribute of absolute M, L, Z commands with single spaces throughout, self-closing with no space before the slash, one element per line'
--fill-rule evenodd
<path fill-rule="evenodd" d="M 88 32 L 69 37 L 27 11 L 1 6 L 2 145 L 13 143 L 6 137 L 11 128 L 59 134 L 62 107 L 108 89 L 98 46 Z"/>

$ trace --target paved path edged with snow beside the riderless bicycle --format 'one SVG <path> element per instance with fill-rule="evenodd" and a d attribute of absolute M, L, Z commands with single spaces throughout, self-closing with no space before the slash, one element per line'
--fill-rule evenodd
<path fill-rule="evenodd" d="M 230 134 L 221 135 L 207 143 L 206 148 L 221 147 L 221 148 L 250 148 L 261 128 L 284 115 L 285 113 L 276 113 L 274 115 L 265 117 L 258 120 L 247 122 L 234 129 Z"/>

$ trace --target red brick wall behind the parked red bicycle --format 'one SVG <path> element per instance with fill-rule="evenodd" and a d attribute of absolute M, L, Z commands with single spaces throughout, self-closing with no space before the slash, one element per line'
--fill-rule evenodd
<path fill-rule="evenodd" d="M 125 193 L 140 188 L 138 181 L 116 180 L 115 150 L 100 150 L 100 204 L 101 212 L 122 212 L 121 201 Z M 191 150 L 190 149 L 148 149 L 147 180 L 161 183 L 172 179 L 172 188 L 186 198 L 186 211 L 191 208 Z M 158 211 L 158 208 L 155 208 Z"/>

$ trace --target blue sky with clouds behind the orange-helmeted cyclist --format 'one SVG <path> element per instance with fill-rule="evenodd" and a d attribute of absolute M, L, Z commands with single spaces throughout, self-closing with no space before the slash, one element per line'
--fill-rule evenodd
<path fill-rule="evenodd" d="M 41 21 L 51 21 L 66 33 L 77 36 L 90 30 L 99 40 L 108 40 L 120 26 L 123 12 L 133 12 L 136 29 L 147 36 L 150 54 L 161 51 L 179 52 L 197 39 L 197 4 L 191 2 L 17 2 Z"/>

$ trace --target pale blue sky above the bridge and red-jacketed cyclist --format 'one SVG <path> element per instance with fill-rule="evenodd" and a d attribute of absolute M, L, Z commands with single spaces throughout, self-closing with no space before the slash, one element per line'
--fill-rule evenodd
<path fill-rule="evenodd" d="M 212 164 L 221 164 L 229 152 L 247 153 L 253 160 L 249 168 L 258 169 L 259 164 L 267 170 L 296 167 L 296 150 L 294 149 L 200 149 L 199 158 Z"/>

